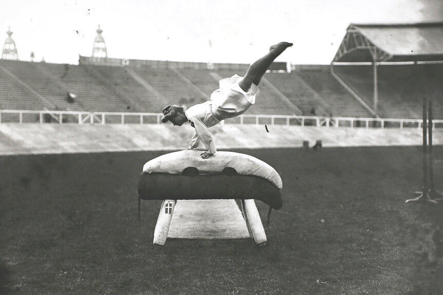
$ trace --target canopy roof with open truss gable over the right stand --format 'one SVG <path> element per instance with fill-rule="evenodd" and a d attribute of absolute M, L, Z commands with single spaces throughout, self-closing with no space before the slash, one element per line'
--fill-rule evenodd
<path fill-rule="evenodd" d="M 443 61 L 443 22 L 350 24 L 334 62 Z"/>

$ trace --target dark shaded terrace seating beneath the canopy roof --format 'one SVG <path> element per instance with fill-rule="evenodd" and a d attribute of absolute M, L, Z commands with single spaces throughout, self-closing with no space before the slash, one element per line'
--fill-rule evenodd
<path fill-rule="evenodd" d="M 370 106 L 373 105 L 372 66 L 334 66 L 334 72 Z M 422 98 L 433 99 L 435 118 L 443 117 L 443 65 L 380 65 L 378 115 L 421 119 Z"/>

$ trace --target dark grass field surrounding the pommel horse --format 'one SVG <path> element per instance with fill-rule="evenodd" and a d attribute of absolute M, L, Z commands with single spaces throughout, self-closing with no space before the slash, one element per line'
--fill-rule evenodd
<path fill-rule="evenodd" d="M 236 151 L 283 179 L 266 247 L 152 245 L 161 202 L 138 221 L 137 181 L 162 152 L 0 157 L 0 293 L 443 294 L 443 205 L 404 203 L 420 147 Z"/>

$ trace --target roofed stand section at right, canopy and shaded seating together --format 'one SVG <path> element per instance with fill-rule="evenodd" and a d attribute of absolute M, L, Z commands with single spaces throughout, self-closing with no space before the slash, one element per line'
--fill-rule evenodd
<path fill-rule="evenodd" d="M 334 57 L 334 73 L 367 105 L 376 107 L 380 117 L 419 119 L 426 97 L 433 100 L 434 117 L 440 119 L 441 35 L 442 22 L 350 24 Z"/>

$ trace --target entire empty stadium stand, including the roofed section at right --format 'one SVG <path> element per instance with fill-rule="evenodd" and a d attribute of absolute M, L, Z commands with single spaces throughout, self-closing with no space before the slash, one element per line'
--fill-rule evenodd
<path fill-rule="evenodd" d="M 427 97 L 434 100 L 434 117 L 440 119 L 442 33 L 443 23 L 351 24 L 334 58 L 333 73 L 329 66 L 308 65 L 288 73 L 285 64 L 276 64 L 263 77 L 248 114 L 364 118 L 376 110 L 384 118 L 419 119 L 421 99 Z M 191 106 L 208 100 L 220 79 L 243 75 L 249 65 L 208 66 L 83 56 L 79 65 L 0 60 L 0 109 L 158 113 L 167 104 Z"/>

